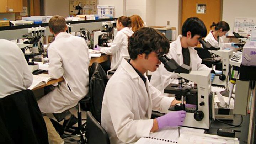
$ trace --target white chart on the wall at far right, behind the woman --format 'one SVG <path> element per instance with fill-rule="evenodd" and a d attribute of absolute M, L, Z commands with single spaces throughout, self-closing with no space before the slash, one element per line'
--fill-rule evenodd
<path fill-rule="evenodd" d="M 256 18 L 235 18 L 234 32 L 247 35 L 256 26 Z"/>

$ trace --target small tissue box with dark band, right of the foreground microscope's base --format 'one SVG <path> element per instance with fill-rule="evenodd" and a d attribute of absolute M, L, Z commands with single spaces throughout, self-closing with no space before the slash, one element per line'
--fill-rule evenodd
<path fill-rule="evenodd" d="M 234 120 L 234 101 L 226 103 L 226 107 L 221 107 L 219 102 L 214 102 L 214 114 L 217 119 Z"/>

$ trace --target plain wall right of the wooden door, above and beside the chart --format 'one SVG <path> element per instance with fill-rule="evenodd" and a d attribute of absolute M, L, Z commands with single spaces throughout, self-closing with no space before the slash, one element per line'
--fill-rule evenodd
<path fill-rule="evenodd" d="M 222 20 L 229 24 L 230 31 L 234 30 L 235 18 L 255 17 L 256 0 L 223 0 Z"/>

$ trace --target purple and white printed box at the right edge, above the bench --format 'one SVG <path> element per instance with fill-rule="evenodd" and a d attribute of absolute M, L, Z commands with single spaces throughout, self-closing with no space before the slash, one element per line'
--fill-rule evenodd
<path fill-rule="evenodd" d="M 256 66 L 256 41 L 247 41 L 243 47 L 242 65 Z"/>

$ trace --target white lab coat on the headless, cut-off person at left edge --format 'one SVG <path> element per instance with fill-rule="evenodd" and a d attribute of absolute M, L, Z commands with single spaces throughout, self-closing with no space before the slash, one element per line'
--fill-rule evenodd
<path fill-rule="evenodd" d="M 17 44 L 0 39 L 0 98 L 26 90 L 33 75 Z"/>

